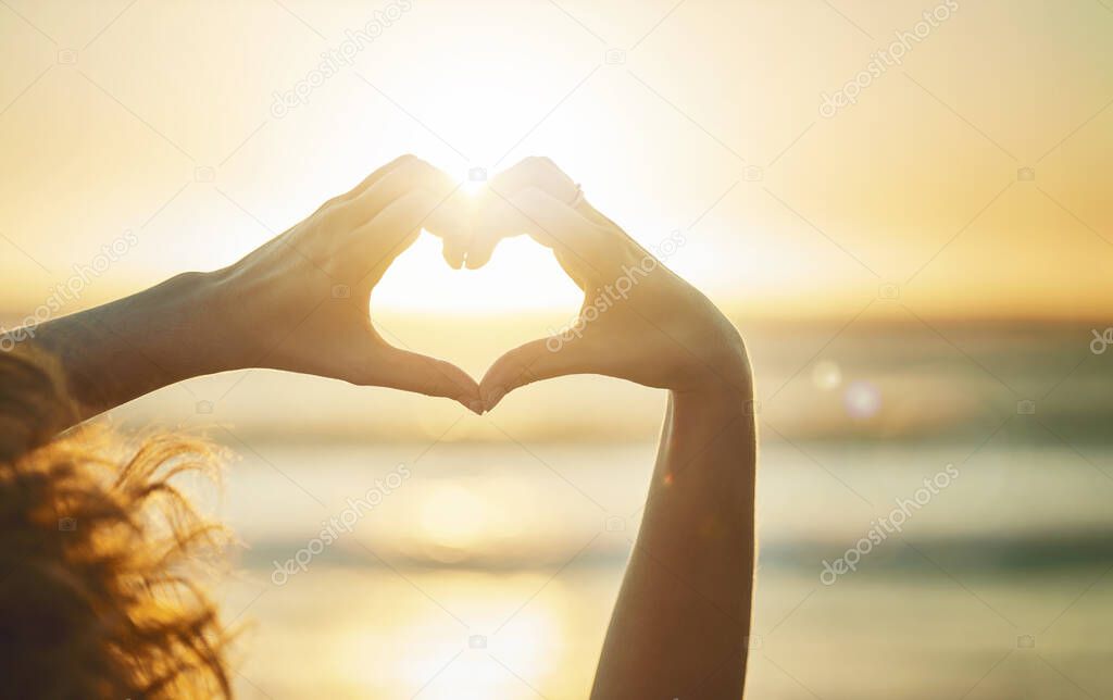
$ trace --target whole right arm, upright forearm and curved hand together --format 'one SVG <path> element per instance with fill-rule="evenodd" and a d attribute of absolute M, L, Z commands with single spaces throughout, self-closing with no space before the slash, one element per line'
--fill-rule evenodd
<path fill-rule="evenodd" d="M 494 363 L 480 385 L 486 407 L 568 374 L 669 390 L 641 531 L 592 698 L 738 700 L 754 594 L 757 463 L 742 341 L 707 297 L 592 208 L 551 161 L 528 159 L 491 190 L 476 229 L 489 236 L 477 240 L 479 259 L 498 237 L 526 233 L 553 249 L 584 302 L 569 333 Z"/>

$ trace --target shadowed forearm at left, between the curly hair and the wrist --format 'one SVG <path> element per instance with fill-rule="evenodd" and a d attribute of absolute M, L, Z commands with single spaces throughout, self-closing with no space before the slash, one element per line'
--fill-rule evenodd
<path fill-rule="evenodd" d="M 236 366 L 221 342 L 213 275 L 188 273 L 29 329 L 55 355 L 87 418 L 162 386 Z"/>

